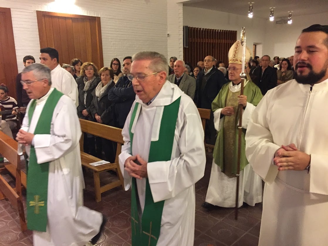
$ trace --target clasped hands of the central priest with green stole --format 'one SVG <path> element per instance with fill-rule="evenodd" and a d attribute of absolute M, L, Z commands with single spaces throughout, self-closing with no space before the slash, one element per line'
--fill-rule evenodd
<path fill-rule="evenodd" d="M 128 157 L 124 162 L 124 169 L 131 177 L 138 179 L 147 177 L 147 162 L 139 154 Z"/>

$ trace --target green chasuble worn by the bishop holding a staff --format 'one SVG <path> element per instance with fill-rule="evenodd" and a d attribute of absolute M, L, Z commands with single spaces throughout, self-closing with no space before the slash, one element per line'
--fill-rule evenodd
<path fill-rule="evenodd" d="M 227 106 L 233 106 L 235 109 L 234 115 L 223 116 L 223 119 L 221 119 L 224 122 L 220 131 L 217 133 L 213 158 L 215 164 L 221 168 L 221 171 L 224 174 L 228 177 L 236 177 L 239 123 L 237 96 L 240 95 L 240 90 L 238 92 L 231 92 L 229 89 L 230 84 L 231 82 L 225 84 L 212 102 L 213 111 Z M 263 97 L 261 90 L 251 81 L 248 81 L 245 85 L 244 95 L 247 96 L 247 102 L 253 104 L 254 106 L 256 106 Z M 243 170 L 248 164 L 245 154 L 245 133 L 246 129 L 242 129 L 240 170 Z"/>

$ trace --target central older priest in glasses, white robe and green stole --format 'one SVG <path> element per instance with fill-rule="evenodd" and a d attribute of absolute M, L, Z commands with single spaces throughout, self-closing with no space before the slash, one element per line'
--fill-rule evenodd
<path fill-rule="evenodd" d="M 195 186 L 204 175 L 201 119 L 193 100 L 167 78 L 166 58 L 132 57 L 136 99 L 125 122 L 119 164 L 132 188 L 132 245 L 194 244 Z"/>

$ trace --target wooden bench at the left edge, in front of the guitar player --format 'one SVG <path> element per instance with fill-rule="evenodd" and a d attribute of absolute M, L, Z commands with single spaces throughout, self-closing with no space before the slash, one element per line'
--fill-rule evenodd
<path fill-rule="evenodd" d="M 26 231 L 27 225 L 22 201 L 22 179 L 26 187 L 26 174 L 20 169 L 21 159 L 20 155 L 17 154 L 17 145 L 18 143 L 14 139 L 0 132 L 0 154 L 9 161 L 9 163 L 4 164 L 4 167 L 0 168 L 0 173 L 8 170 L 16 180 L 15 187 L 12 188 L 0 174 L 0 199 L 7 198 L 12 206 L 18 210 L 21 229 Z"/>

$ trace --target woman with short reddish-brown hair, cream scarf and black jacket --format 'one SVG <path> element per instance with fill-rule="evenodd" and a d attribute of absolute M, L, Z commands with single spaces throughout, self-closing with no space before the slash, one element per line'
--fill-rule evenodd
<path fill-rule="evenodd" d="M 111 111 L 111 101 L 108 99 L 108 91 L 115 85 L 113 81 L 114 71 L 112 68 L 104 67 L 100 69 L 99 75 L 101 81 L 92 92 L 93 100 L 91 102 L 91 114 L 94 121 L 105 124 L 113 125 L 113 117 Z M 111 140 L 96 137 L 97 152 L 98 149 L 104 150 L 106 160 L 113 163 L 115 161 L 115 153 L 113 142 Z M 102 158 L 101 158 L 102 159 Z"/>

